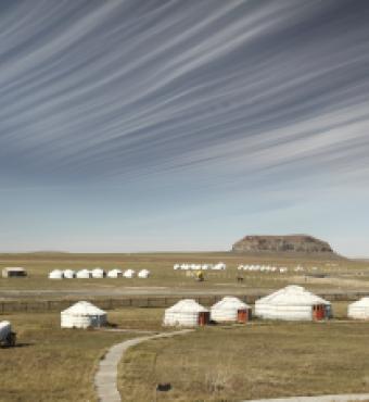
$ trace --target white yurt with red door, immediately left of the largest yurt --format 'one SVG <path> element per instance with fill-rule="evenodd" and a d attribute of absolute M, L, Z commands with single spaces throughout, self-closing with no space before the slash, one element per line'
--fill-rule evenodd
<path fill-rule="evenodd" d="M 238 298 L 225 297 L 211 307 L 211 318 L 217 323 L 246 323 L 251 306 Z"/>

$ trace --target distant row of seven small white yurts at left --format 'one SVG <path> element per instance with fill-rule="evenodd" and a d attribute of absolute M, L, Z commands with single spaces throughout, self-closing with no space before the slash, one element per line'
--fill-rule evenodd
<path fill-rule="evenodd" d="M 133 269 L 126 269 L 122 271 L 118 268 L 114 268 L 111 271 L 105 272 L 102 268 L 94 268 L 94 269 L 80 269 L 80 271 L 73 271 L 73 269 L 53 269 L 49 274 L 49 279 L 73 279 L 73 278 L 133 278 L 136 276 L 136 271 Z M 141 269 L 138 272 L 137 277 L 139 278 L 149 278 L 150 271 L 149 269 Z"/>

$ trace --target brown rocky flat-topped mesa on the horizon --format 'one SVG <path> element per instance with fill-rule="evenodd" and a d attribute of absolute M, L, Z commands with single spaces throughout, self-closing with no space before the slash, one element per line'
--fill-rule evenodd
<path fill-rule="evenodd" d="M 245 236 L 232 246 L 232 251 L 240 253 L 285 252 L 333 254 L 333 250 L 327 241 L 306 235 Z"/>

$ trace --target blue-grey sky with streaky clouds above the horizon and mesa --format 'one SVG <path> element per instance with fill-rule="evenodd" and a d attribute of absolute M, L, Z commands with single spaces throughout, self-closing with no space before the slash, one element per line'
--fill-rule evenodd
<path fill-rule="evenodd" d="M 1 0 L 0 251 L 369 256 L 369 1 Z"/>

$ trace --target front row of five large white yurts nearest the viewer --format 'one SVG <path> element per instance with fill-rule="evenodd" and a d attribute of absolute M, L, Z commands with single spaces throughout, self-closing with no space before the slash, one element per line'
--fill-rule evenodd
<path fill-rule="evenodd" d="M 265 319 L 315 321 L 333 316 L 331 303 L 300 286 L 288 286 L 256 300 L 254 314 Z M 369 298 L 348 306 L 347 315 L 354 319 L 369 319 Z M 216 323 L 246 323 L 252 307 L 234 297 L 225 297 L 211 309 L 192 299 L 184 299 L 165 310 L 166 326 L 194 327 Z M 61 313 L 62 328 L 88 328 L 106 325 L 106 312 L 90 302 L 80 301 Z"/>

